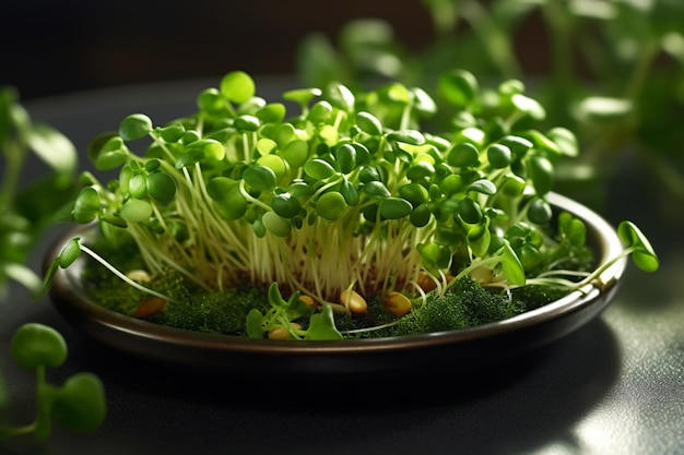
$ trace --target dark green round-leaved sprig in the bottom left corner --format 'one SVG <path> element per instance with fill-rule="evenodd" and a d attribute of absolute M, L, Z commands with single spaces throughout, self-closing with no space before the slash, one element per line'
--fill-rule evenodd
<path fill-rule="evenodd" d="M 62 384 L 47 381 L 48 368 L 59 368 L 67 360 L 63 337 L 55 328 L 38 323 L 20 326 L 11 340 L 14 361 L 36 374 L 36 418 L 25 426 L 0 426 L 0 438 L 33 434 L 47 439 L 52 423 L 78 433 L 97 430 L 106 416 L 104 386 L 92 373 L 76 373 Z"/>

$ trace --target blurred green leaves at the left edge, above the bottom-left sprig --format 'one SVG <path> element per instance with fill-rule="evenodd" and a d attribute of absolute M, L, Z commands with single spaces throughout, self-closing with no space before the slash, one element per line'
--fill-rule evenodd
<path fill-rule="evenodd" d="M 22 181 L 31 154 L 50 172 L 28 183 Z M 76 153 L 73 144 L 47 124 L 33 122 L 12 87 L 0 87 L 0 295 L 9 280 L 40 291 L 40 278 L 25 264 L 37 241 L 76 190 Z M 1 299 L 1 297 L 0 297 Z"/>

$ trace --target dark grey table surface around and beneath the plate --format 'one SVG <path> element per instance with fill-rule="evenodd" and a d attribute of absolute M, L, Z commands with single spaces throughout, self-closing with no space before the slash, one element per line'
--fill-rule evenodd
<path fill-rule="evenodd" d="M 280 80 L 258 81 L 279 94 Z M 26 107 L 84 151 L 97 133 L 137 111 L 157 123 L 193 110 L 217 81 L 78 93 Z M 515 362 L 418 378 L 204 376 L 149 364 L 86 338 L 51 307 L 19 287 L 0 304 L 0 368 L 17 419 L 33 415 L 33 378 L 9 359 L 24 322 L 66 337 L 68 362 L 48 378 L 92 371 L 103 380 L 108 416 L 94 434 L 57 430 L 52 439 L 0 442 L 19 454 L 682 454 L 684 453 L 684 273 L 681 202 L 644 200 L 627 163 L 609 189 L 605 215 L 629 217 L 652 239 L 661 271 L 630 265 L 610 308 L 569 336 Z M 32 167 L 37 172 L 39 166 Z M 32 259 L 39 266 L 48 232 Z M 435 359 L 458 361 L 458 359 Z M 4 452 L 3 452 L 4 451 Z"/>

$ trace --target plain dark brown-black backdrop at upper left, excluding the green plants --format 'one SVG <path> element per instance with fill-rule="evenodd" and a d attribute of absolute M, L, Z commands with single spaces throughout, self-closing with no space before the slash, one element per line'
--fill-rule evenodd
<path fill-rule="evenodd" d="M 23 99 L 141 82 L 292 74 L 299 43 L 382 17 L 416 51 L 431 40 L 420 1 L 5 0 L 0 85 Z"/>

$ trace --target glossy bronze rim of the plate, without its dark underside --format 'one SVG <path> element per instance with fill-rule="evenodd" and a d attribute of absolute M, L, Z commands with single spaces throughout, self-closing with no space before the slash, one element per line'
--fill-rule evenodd
<path fill-rule="evenodd" d="M 557 193 L 549 194 L 549 202 L 556 208 L 567 211 L 581 218 L 587 225 L 587 235 L 597 243 L 599 262 L 601 264 L 617 255 L 623 246 L 615 229 L 600 215 L 590 208 Z M 45 262 L 56 258 L 66 241 L 83 227 L 67 231 L 48 250 Z M 50 298 L 56 308 L 74 325 L 89 332 L 90 335 L 101 338 L 106 344 L 122 345 L 129 343 L 128 350 L 143 356 L 150 356 L 144 343 L 149 342 L 157 347 L 184 347 L 200 352 L 268 355 L 268 356 L 320 356 L 320 355 L 354 355 L 397 352 L 408 349 L 435 348 L 453 345 L 477 344 L 482 340 L 492 340 L 506 337 L 517 332 L 533 330 L 552 322 L 568 318 L 574 313 L 595 307 L 592 316 L 600 313 L 612 300 L 627 266 L 627 260 L 622 259 L 611 265 L 600 276 L 600 287 L 588 285 L 583 289 L 574 291 L 544 307 L 528 311 L 517 316 L 484 324 L 476 327 L 439 332 L 421 335 L 406 335 L 391 338 L 344 339 L 339 342 L 278 342 L 270 339 L 251 339 L 238 336 L 200 333 L 157 325 L 143 320 L 126 316 L 98 306 L 90 299 L 81 288 L 78 279 L 78 267 L 60 270 L 50 290 Z M 588 318 L 591 319 L 591 318 Z M 586 319 L 586 320 L 588 320 Z M 581 321 L 585 323 L 587 321 Z M 580 325 L 581 325 L 580 323 Z M 559 332 L 545 342 L 566 335 Z M 135 348 L 135 343 L 140 348 Z M 131 347 L 132 346 L 132 347 Z M 184 354 L 185 355 L 185 354 Z M 154 356 L 154 354 L 152 354 Z M 164 358 L 173 354 L 165 354 Z M 179 359 L 182 362 L 182 359 Z"/>

